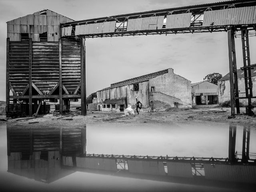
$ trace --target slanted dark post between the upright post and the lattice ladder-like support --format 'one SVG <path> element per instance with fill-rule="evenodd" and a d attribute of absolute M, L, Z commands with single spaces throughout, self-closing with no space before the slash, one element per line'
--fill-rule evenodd
<path fill-rule="evenodd" d="M 234 29 L 231 28 L 231 46 L 232 46 L 232 60 L 233 60 L 233 73 L 234 73 L 234 89 L 235 89 L 235 102 L 236 102 L 236 113 L 240 114 L 239 104 L 239 92 L 238 92 L 238 80 L 237 80 L 237 69 L 236 69 L 236 47 L 234 38 Z"/>

